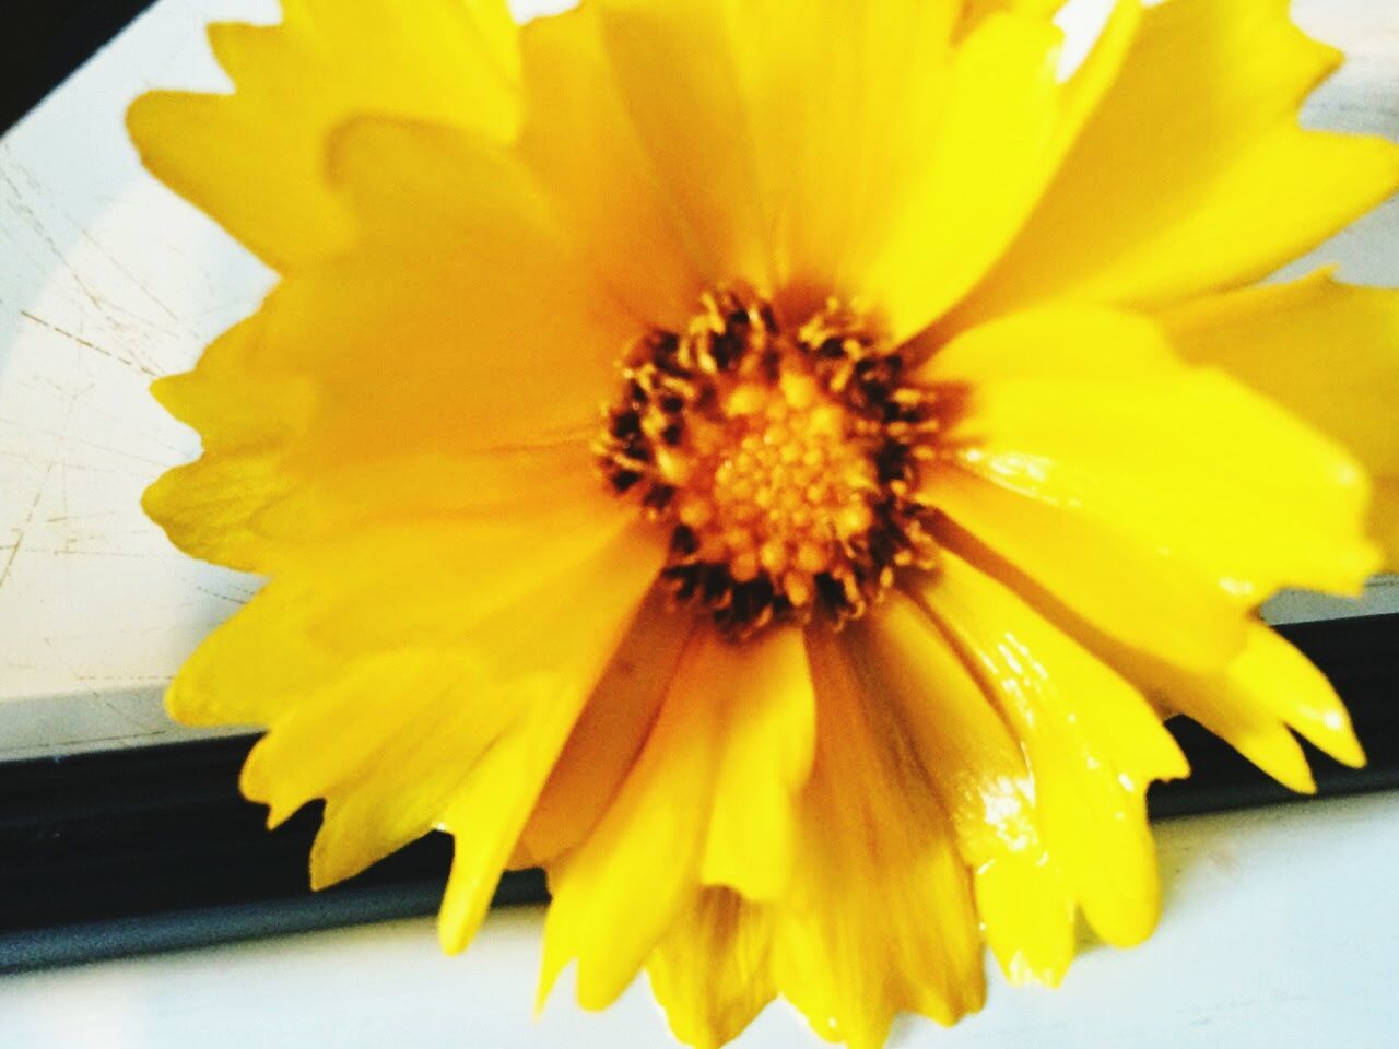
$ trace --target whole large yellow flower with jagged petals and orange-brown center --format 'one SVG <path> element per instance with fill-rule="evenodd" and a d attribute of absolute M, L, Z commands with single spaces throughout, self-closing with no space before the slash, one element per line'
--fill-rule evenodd
<path fill-rule="evenodd" d="M 543 864 L 546 990 L 879 1046 L 1150 933 L 1168 712 L 1363 761 L 1255 610 L 1399 555 L 1399 297 L 1241 288 L 1399 148 L 1298 129 L 1286 0 L 1067 78 L 1044 0 L 284 6 L 130 130 L 281 274 L 145 505 L 270 578 L 169 708 L 270 726 L 316 885 L 442 828 L 448 950 Z"/>

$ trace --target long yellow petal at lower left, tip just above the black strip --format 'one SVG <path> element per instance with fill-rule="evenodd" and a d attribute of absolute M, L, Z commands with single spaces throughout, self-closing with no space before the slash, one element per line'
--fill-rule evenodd
<path fill-rule="evenodd" d="M 497 505 L 474 519 L 360 529 L 302 550 L 180 667 L 171 715 L 193 725 L 270 725 L 299 691 L 357 656 L 455 646 L 511 600 L 547 590 L 555 573 L 586 562 L 627 524 L 606 498 L 564 502 L 550 516 L 537 504 Z M 649 555 L 649 534 L 632 540 L 638 561 Z"/>

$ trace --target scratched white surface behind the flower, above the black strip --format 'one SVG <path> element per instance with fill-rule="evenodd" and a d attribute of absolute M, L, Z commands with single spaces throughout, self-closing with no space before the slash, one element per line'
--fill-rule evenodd
<path fill-rule="evenodd" d="M 271 276 L 139 168 L 122 113 L 147 87 L 224 87 L 203 24 L 276 10 L 161 0 L 0 140 L 0 757 L 179 737 L 164 684 L 256 587 L 172 550 L 139 498 L 197 450 L 150 380 L 187 368 Z M 1399 137 L 1399 4 L 1297 13 L 1351 55 L 1308 122 Z M 1399 284 L 1399 204 L 1323 255 L 1350 280 Z M 1399 587 L 1367 607 L 1399 608 Z M 1288 599 L 1279 611 L 1354 608 Z"/>

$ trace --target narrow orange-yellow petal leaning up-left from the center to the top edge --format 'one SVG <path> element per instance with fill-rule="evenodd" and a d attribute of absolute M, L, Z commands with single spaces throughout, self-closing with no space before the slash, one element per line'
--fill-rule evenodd
<path fill-rule="evenodd" d="M 527 22 L 520 60 L 525 161 L 617 297 L 680 330 L 704 281 L 607 69 L 597 7 Z"/>

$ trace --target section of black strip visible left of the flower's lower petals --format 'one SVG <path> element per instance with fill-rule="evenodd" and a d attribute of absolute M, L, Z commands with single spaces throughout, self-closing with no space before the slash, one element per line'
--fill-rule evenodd
<path fill-rule="evenodd" d="M 308 887 L 320 806 L 269 832 L 238 794 L 252 738 L 0 762 L 0 972 L 431 913 L 432 834 L 326 892 Z M 539 871 L 495 902 L 546 899 Z"/>

